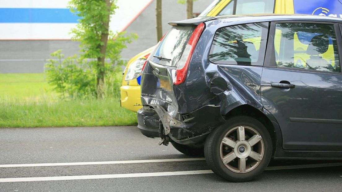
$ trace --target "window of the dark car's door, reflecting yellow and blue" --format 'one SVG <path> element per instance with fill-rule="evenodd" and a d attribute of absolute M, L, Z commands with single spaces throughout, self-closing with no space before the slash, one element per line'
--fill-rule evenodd
<path fill-rule="evenodd" d="M 274 47 L 277 66 L 340 72 L 333 25 L 278 23 Z"/>

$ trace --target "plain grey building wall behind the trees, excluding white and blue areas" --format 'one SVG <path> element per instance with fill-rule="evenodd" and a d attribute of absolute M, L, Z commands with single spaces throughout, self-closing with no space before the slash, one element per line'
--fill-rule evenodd
<path fill-rule="evenodd" d="M 202 12 L 210 2 L 195 1 L 194 13 Z M 123 50 L 123 59 L 127 60 L 157 43 L 155 6 L 153 1 L 126 29 L 128 33 L 137 33 L 139 38 Z M 178 4 L 177 0 L 162 0 L 163 33 L 170 28 L 167 22 L 185 18 L 186 5 Z M 0 40 L 0 73 L 41 73 L 46 59 L 51 58 L 50 54 L 58 49 L 62 49 L 66 57 L 71 56 L 78 53 L 79 43 L 65 39 Z"/>

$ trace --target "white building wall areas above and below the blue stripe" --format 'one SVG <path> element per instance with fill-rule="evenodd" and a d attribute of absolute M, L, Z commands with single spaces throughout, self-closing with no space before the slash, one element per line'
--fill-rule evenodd
<path fill-rule="evenodd" d="M 67 9 L 69 0 L 0 0 L 0 8 Z M 119 9 L 112 16 L 110 29 L 126 29 L 153 0 L 118 0 Z M 19 10 L 20 11 L 20 10 Z M 51 12 L 53 16 L 54 12 Z M 11 15 L 4 15 L 10 18 Z M 44 15 L 41 15 L 44 17 Z M 2 20 L 5 20 L 3 18 Z M 0 22 L 0 40 L 71 39 L 69 31 L 76 23 L 8 23 Z"/>

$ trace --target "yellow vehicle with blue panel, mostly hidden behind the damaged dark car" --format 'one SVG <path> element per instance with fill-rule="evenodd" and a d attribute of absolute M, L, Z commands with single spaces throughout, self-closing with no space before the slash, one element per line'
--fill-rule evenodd
<path fill-rule="evenodd" d="M 342 4 L 338 0 L 215 0 L 199 16 L 222 16 L 240 14 L 314 14 L 332 17 L 342 16 Z M 305 50 L 307 37 L 294 37 L 298 42 L 296 47 Z M 309 40 L 310 42 L 310 40 Z M 276 50 L 279 49 L 277 44 Z M 329 46 L 330 47 L 330 46 Z M 330 48 L 332 50 L 332 48 Z M 123 73 L 120 87 L 121 106 L 137 111 L 141 106 L 140 77 L 143 65 L 154 46 L 137 54 L 128 61 Z M 297 48 L 296 48 L 297 50 Z M 329 52 L 329 51 L 328 51 Z M 327 53 L 329 58 L 333 54 Z M 296 65 L 305 67 L 306 56 L 299 51 L 296 53 Z M 331 59 L 333 60 L 333 59 Z M 334 66 L 334 63 L 332 63 Z"/>

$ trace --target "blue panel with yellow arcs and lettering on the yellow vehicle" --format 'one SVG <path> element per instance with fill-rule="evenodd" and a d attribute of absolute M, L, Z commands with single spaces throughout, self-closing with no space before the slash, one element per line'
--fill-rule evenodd
<path fill-rule="evenodd" d="M 339 0 L 293 0 L 293 5 L 296 14 L 342 18 L 342 3 Z"/>

